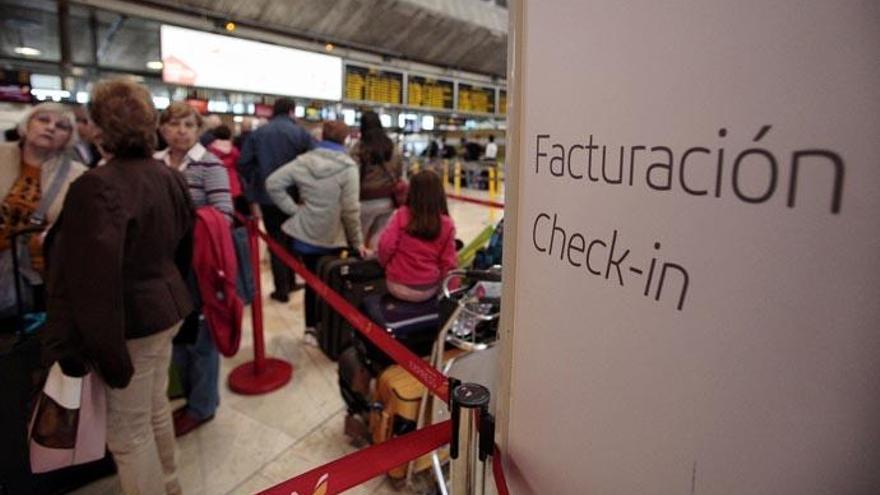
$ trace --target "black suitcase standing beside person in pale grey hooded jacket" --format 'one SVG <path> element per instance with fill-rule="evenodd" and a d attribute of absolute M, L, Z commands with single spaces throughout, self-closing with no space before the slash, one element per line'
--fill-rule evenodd
<path fill-rule="evenodd" d="M 364 298 L 384 294 L 385 270 L 375 259 L 325 256 L 318 261 L 318 276 L 330 289 L 337 292 L 355 308 Z M 318 322 L 318 345 L 332 360 L 339 358 L 343 349 L 351 343 L 354 328 L 321 298 L 316 298 L 315 314 Z"/>

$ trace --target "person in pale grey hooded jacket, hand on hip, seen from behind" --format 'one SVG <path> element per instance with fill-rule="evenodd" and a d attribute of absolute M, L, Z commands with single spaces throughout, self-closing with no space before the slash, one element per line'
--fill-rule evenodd
<path fill-rule="evenodd" d="M 281 229 L 292 238 L 291 250 L 299 255 L 309 271 L 318 259 L 353 248 L 366 256 L 361 232 L 358 166 L 342 143 L 348 126 L 339 121 L 324 122 L 323 140 L 308 153 L 299 155 L 266 178 L 266 192 L 278 209 L 290 218 Z M 296 185 L 300 202 L 288 194 Z M 306 287 L 306 333 L 314 334 L 315 292 Z"/>

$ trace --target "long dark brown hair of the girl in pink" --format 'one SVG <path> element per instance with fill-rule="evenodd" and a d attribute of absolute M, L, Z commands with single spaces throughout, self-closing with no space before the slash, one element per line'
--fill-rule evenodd
<path fill-rule="evenodd" d="M 432 170 L 422 170 L 412 176 L 406 205 L 410 213 L 406 233 L 426 241 L 436 239 L 440 235 L 441 215 L 449 214 L 440 176 Z"/>

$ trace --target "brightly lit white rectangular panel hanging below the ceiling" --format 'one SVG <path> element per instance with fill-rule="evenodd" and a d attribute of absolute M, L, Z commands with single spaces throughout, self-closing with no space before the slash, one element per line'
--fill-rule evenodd
<path fill-rule="evenodd" d="M 186 86 L 342 98 L 342 59 L 163 25 L 162 78 Z"/>

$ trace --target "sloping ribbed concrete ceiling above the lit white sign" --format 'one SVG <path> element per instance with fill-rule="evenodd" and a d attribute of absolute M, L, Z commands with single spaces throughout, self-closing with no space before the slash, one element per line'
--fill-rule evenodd
<path fill-rule="evenodd" d="M 486 0 L 154 0 L 252 27 L 504 77 L 507 9 Z"/>

